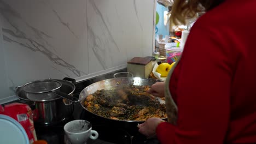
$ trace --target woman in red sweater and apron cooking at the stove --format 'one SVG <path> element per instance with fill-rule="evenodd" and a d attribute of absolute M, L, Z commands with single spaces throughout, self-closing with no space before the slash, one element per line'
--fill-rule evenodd
<path fill-rule="evenodd" d="M 181 59 L 149 91 L 161 97 L 165 87 L 168 122 L 149 118 L 139 131 L 162 144 L 256 143 L 256 1 L 176 0 L 174 23 L 199 4 L 207 12 Z"/>

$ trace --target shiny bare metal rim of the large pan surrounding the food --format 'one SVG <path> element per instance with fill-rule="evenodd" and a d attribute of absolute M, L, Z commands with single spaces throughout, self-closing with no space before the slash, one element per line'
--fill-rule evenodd
<path fill-rule="evenodd" d="M 118 78 L 98 81 L 98 82 L 92 83 L 88 87 L 84 88 L 82 92 L 80 92 L 79 101 L 80 101 L 80 104 L 83 106 L 83 108 L 86 111 L 90 112 L 89 110 L 86 109 L 86 107 L 84 105 L 84 101 L 85 101 L 86 97 L 88 97 L 89 94 L 96 92 L 98 89 L 106 89 L 106 90 L 118 89 L 118 88 L 122 88 L 124 86 L 131 85 L 131 84 L 137 85 L 137 86 L 142 86 L 142 85 L 151 86 L 155 82 L 160 82 L 160 81 L 162 81 L 162 80 L 143 79 L 141 77 L 118 77 Z M 162 103 L 162 101 L 160 101 L 160 103 Z M 93 114 L 96 115 L 95 113 L 93 113 Z M 96 115 L 96 116 L 106 118 L 106 117 L 103 117 L 100 115 Z M 110 119 L 110 118 L 106 118 L 106 119 Z M 121 121 L 121 120 L 115 120 L 115 119 L 110 119 L 110 120 L 111 121 Z M 123 122 L 141 122 L 141 121 L 123 121 Z"/>

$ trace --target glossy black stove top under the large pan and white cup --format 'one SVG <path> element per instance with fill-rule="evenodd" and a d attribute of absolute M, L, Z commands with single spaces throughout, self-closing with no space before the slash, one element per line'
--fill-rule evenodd
<path fill-rule="evenodd" d="M 97 76 L 94 79 L 78 82 L 75 84 L 75 91 L 73 97 L 79 97 L 79 93 L 91 83 L 101 81 L 104 79 L 111 79 L 113 75 L 118 72 L 126 71 L 126 69 L 114 71 L 102 76 Z M 74 103 L 73 116 L 69 118 L 69 121 L 73 119 L 84 119 L 91 122 L 92 129 L 96 130 L 99 134 L 97 140 L 89 139 L 87 144 L 158 144 L 157 139 L 147 139 L 144 135 L 138 132 L 137 122 L 120 122 L 112 121 L 111 119 L 96 116 L 86 110 L 80 105 L 80 103 Z M 69 143 L 65 137 L 63 126 L 66 124 L 60 123 L 54 126 L 42 126 L 35 125 L 37 138 L 46 140 L 49 144 Z"/>

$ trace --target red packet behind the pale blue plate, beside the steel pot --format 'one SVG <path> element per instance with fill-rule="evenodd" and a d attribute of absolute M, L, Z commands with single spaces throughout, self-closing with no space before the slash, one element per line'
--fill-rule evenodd
<path fill-rule="evenodd" d="M 0 114 L 10 116 L 18 121 L 25 129 L 30 143 L 37 141 L 36 130 L 34 129 L 33 116 L 30 106 L 26 104 L 13 103 L 0 105 Z"/>

